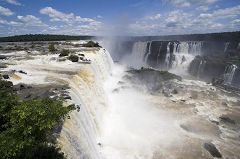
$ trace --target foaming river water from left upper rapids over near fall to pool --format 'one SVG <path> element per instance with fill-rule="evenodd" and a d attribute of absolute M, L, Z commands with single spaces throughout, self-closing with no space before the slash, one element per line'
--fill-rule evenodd
<path fill-rule="evenodd" d="M 31 60 L 13 60 L 14 65 L 8 68 L 28 73 L 18 74 L 20 79 L 11 77 L 15 83 L 69 84 L 71 102 L 81 104 L 81 110 L 71 113 L 58 139 L 68 158 L 212 158 L 202 146 L 209 140 L 226 158 L 240 157 L 238 134 L 222 127 L 220 138 L 221 124 L 216 126 L 208 120 L 218 121 L 222 114 L 238 112 L 231 100 L 237 102 L 239 98 L 219 97 L 215 87 L 191 80 L 178 82 L 183 89 L 173 97 L 150 94 L 128 82 L 122 87 L 119 81 L 123 81 L 125 68 L 113 66 L 108 52 L 101 49 L 84 54 L 91 64 L 58 62 L 57 55 L 40 55 Z M 190 98 L 194 91 L 196 99 Z M 221 104 L 223 101 L 228 107 Z M 190 131 L 183 130 L 181 124 Z M 234 133 L 235 138 L 231 136 Z"/>

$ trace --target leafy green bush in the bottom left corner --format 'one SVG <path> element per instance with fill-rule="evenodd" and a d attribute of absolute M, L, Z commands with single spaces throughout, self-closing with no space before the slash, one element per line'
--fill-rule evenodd
<path fill-rule="evenodd" d="M 53 129 L 73 105 L 53 99 L 21 101 L 11 82 L 0 80 L 0 154 L 2 159 L 64 159 L 54 146 Z"/>

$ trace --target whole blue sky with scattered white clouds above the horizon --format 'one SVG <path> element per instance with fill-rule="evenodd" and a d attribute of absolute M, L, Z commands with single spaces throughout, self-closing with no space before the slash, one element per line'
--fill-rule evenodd
<path fill-rule="evenodd" d="M 0 36 L 240 30 L 240 0 L 0 0 Z"/>

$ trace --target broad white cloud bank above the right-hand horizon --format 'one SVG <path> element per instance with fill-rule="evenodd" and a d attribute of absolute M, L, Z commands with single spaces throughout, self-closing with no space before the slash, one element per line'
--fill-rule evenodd
<path fill-rule="evenodd" d="M 129 25 L 129 33 L 136 35 L 167 35 L 235 31 L 240 29 L 240 5 L 206 12 L 175 10 L 161 14 L 161 20 L 149 17 L 138 19 Z"/>

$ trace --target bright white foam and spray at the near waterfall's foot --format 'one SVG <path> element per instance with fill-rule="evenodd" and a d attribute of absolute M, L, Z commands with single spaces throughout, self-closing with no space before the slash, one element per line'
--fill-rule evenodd
<path fill-rule="evenodd" d="M 115 65 L 105 84 L 109 107 L 100 137 L 101 153 L 106 159 L 152 159 L 160 145 L 177 143 L 180 136 L 172 115 L 151 103 L 147 92 L 121 88 L 118 82 L 124 74 L 124 67 Z M 116 88 L 119 91 L 113 91 Z"/>

